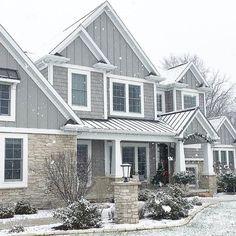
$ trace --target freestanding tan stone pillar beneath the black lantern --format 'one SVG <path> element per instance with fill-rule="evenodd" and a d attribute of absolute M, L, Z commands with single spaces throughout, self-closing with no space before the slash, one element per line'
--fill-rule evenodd
<path fill-rule="evenodd" d="M 138 215 L 138 186 L 140 182 L 114 182 L 115 223 L 137 224 Z"/>

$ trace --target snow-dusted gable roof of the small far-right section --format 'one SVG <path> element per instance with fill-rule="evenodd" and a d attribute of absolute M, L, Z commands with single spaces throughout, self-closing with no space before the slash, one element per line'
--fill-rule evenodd
<path fill-rule="evenodd" d="M 232 137 L 236 139 L 236 130 L 226 116 L 213 117 L 213 118 L 210 118 L 209 121 L 217 132 L 220 130 L 220 128 L 224 124 L 225 127 L 230 132 L 230 134 L 232 135 Z"/>

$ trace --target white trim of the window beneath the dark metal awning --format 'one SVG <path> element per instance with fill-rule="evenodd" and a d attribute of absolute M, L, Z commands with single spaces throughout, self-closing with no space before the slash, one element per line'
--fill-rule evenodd
<path fill-rule="evenodd" d="M 1 84 L 4 82 L 0 81 Z M 19 82 L 17 82 L 19 83 Z M 15 121 L 16 120 L 16 85 L 14 81 L 12 83 L 5 83 L 11 86 L 11 101 L 10 101 L 10 115 L 0 115 L 0 121 Z"/>

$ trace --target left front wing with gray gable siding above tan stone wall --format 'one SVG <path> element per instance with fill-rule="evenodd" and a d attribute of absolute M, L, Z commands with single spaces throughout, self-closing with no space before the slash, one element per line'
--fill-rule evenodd
<path fill-rule="evenodd" d="M 76 151 L 76 135 L 61 131 L 81 123 L 71 108 L 0 25 L 0 199 L 32 199 L 55 206 L 47 193 L 44 161 L 54 152 Z"/>

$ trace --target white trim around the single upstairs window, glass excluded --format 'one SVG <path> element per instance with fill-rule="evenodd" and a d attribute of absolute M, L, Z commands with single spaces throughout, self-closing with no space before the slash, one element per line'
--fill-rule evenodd
<path fill-rule="evenodd" d="M 72 104 L 72 73 L 87 76 L 87 106 Z M 91 111 L 91 73 L 90 71 L 68 69 L 68 104 L 75 111 Z"/>

